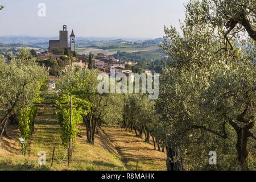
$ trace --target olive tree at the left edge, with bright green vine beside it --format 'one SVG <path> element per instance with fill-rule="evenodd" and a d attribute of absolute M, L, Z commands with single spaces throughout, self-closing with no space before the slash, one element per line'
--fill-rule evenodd
<path fill-rule="evenodd" d="M 15 114 L 18 116 L 21 137 L 28 142 L 36 113 L 34 103 L 40 101 L 40 93 L 47 82 L 46 69 L 32 59 L 27 48 L 22 48 L 18 57 L 8 64 L 1 57 L 0 69 L 0 107 L 3 109 L 1 137 L 9 118 Z"/>

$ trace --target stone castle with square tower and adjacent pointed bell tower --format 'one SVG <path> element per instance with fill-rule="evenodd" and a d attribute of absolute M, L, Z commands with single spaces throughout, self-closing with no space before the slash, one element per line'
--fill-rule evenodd
<path fill-rule="evenodd" d="M 70 38 L 70 50 L 75 52 L 75 34 L 72 30 Z M 63 26 L 63 30 L 60 30 L 60 39 L 59 40 L 49 40 L 49 51 L 55 48 L 68 48 L 68 31 L 67 26 Z"/>

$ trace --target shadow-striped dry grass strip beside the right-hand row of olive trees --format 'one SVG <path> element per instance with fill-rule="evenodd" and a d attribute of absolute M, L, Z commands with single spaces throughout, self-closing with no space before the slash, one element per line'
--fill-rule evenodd
<path fill-rule="evenodd" d="M 129 170 L 166 170 L 166 154 L 154 150 L 152 144 L 135 137 L 133 133 L 117 128 L 104 128 L 104 133 L 117 148 L 122 161 Z"/>

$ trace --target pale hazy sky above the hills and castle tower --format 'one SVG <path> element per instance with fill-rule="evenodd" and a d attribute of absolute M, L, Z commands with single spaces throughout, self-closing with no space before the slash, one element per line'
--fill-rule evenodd
<path fill-rule="evenodd" d="M 159 38 L 164 25 L 179 27 L 188 0 L 0 0 L 0 36 L 59 36 L 63 24 L 76 36 Z M 39 3 L 46 17 L 38 16 Z"/>

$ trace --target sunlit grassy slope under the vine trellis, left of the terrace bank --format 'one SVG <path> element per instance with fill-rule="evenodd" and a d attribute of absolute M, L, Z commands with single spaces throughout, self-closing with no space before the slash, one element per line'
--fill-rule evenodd
<path fill-rule="evenodd" d="M 96 145 L 92 146 L 86 143 L 86 139 L 77 137 L 73 145 L 72 162 L 67 168 L 67 160 L 58 162 L 55 158 L 53 167 L 51 168 L 52 150 L 55 146 L 56 156 L 60 160 L 63 159 L 66 150 L 61 144 L 60 131 L 61 128 L 53 115 L 53 110 L 42 110 L 36 117 L 35 133 L 32 135 L 30 147 L 28 147 L 28 156 L 20 155 L 20 147 L 16 142 L 18 139 L 18 130 L 16 137 L 8 141 L 5 138 L 3 146 L 5 150 L 0 150 L 0 170 L 123 170 L 125 166 L 113 154 L 103 147 L 102 142 L 96 138 Z M 41 111 L 41 112 L 42 112 Z M 10 135 L 10 133 L 9 133 Z M 84 133 L 82 133 L 85 136 Z M 11 143 L 10 143 L 11 142 Z M 14 146 L 15 148 L 6 147 Z M 38 167 L 38 152 L 46 152 L 46 167 Z M 65 158 L 67 159 L 67 157 Z"/>

